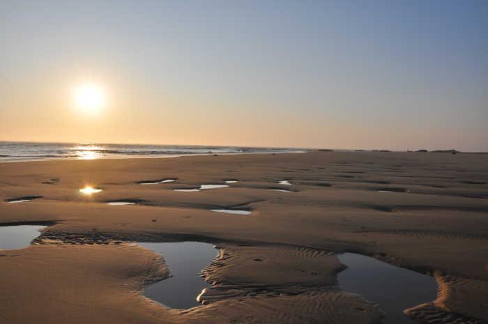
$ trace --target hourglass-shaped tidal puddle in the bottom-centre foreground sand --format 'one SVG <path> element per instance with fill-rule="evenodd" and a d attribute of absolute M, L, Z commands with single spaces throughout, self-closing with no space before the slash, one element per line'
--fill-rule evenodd
<path fill-rule="evenodd" d="M 200 272 L 217 256 L 213 245 L 202 242 L 137 244 L 161 254 L 173 276 L 147 286 L 144 296 L 174 309 L 200 305 L 197 296 L 210 286 L 200 277 Z"/>

